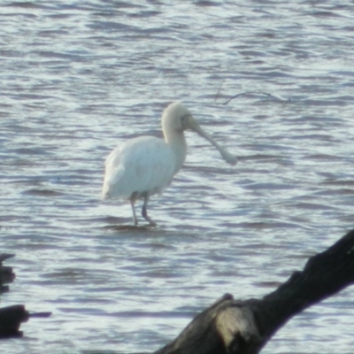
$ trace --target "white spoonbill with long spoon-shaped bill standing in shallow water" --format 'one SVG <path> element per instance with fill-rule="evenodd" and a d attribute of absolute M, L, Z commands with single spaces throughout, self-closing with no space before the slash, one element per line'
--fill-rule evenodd
<path fill-rule="evenodd" d="M 105 160 L 103 196 L 128 200 L 132 205 L 135 225 L 138 223 L 135 202 L 140 198 L 144 200 L 142 216 L 150 225 L 156 225 L 148 216 L 149 198 L 154 194 L 162 194 L 174 174 L 181 170 L 187 155 L 184 130 L 194 130 L 212 142 L 227 163 L 237 163 L 235 156 L 204 132 L 183 104 L 175 102 L 168 105 L 161 123 L 165 140 L 153 136 L 137 137 L 112 150 Z"/>

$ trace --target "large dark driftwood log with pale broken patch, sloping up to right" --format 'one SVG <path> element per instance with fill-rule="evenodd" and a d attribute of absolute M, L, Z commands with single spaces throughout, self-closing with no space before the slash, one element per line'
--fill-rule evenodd
<path fill-rule="evenodd" d="M 155 354 L 257 354 L 278 329 L 354 282 L 354 230 L 262 299 L 225 295 Z"/>

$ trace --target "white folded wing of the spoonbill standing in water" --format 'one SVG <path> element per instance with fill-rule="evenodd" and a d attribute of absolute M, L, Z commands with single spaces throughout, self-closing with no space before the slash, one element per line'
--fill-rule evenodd
<path fill-rule="evenodd" d="M 136 193 L 162 193 L 175 171 L 171 148 L 150 136 L 132 139 L 107 157 L 104 174 L 104 196 L 127 199 Z"/>

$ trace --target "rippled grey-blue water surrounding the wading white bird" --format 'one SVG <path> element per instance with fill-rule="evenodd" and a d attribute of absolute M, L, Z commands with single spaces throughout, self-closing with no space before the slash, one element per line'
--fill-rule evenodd
<path fill-rule="evenodd" d="M 17 274 L 1 305 L 53 312 L 2 353 L 158 350 L 354 226 L 352 1 L 3 1 L 0 23 L 0 251 Z M 130 206 L 101 199 L 104 158 L 161 136 L 176 100 L 239 164 L 187 133 L 158 227 L 129 227 Z M 353 330 L 348 288 L 262 353 L 351 353 Z"/>

